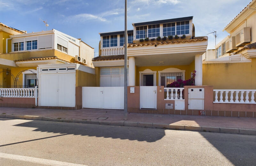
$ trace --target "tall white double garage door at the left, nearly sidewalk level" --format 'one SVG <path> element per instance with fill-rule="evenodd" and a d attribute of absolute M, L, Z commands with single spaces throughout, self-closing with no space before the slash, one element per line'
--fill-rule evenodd
<path fill-rule="evenodd" d="M 75 107 L 75 73 L 41 74 L 40 106 Z"/>

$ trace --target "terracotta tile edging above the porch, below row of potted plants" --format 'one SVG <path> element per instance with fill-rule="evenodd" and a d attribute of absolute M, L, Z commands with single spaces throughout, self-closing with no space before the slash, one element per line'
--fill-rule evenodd
<path fill-rule="evenodd" d="M 139 43 L 139 44 L 135 44 L 135 43 L 129 43 L 127 47 L 134 47 L 134 46 L 148 46 L 148 45 L 158 45 L 158 44 L 174 44 L 174 43 L 186 43 L 186 42 L 195 42 L 195 41 L 203 41 L 203 40 L 208 40 L 207 36 L 198 36 L 198 37 L 194 37 L 193 39 L 189 39 L 189 40 L 175 40 L 175 41 L 164 41 L 164 42 L 154 42 L 154 43 Z"/>

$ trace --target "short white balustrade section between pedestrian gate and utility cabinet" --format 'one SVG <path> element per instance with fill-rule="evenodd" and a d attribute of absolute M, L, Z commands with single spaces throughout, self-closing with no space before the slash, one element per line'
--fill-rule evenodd
<path fill-rule="evenodd" d="M 164 88 L 166 90 L 166 98 L 164 100 L 184 100 L 182 91 L 184 88 Z M 171 92 L 171 94 L 169 94 Z"/>

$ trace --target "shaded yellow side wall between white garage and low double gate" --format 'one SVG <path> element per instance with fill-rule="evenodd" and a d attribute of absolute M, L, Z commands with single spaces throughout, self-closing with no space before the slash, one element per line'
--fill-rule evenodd
<path fill-rule="evenodd" d="M 76 70 L 76 86 L 96 86 L 96 75 Z"/>

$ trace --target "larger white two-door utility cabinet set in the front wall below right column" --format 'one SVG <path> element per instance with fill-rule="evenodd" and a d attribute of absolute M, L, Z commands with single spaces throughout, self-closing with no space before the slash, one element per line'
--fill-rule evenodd
<path fill-rule="evenodd" d="M 204 110 L 204 88 L 188 88 L 188 109 Z"/>

